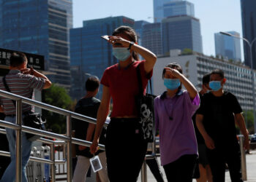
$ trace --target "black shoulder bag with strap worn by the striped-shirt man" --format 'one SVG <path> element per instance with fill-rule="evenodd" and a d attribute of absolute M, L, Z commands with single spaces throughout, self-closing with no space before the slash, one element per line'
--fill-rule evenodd
<path fill-rule="evenodd" d="M 3 82 L 4 82 L 4 87 L 6 88 L 6 90 L 8 92 L 11 92 L 10 88 L 7 85 L 5 76 L 3 78 Z M 31 92 L 31 95 L 33 95 L 33 92 Z M 16 107 L 16 103 L 15 103 L 14 100 L 12 100 L 12 103 Z M 41 114 L 33 113 L 33 112 L 27 112 L 24 115 L 25 116 L 23 117 L 23 124 L 26 127 L 33 127 L 35 129 L 39 129 L 39 130 L 46 130 L 45 129 L 46 119 L 44 117 L 42 117 Z M 29 141 L 37 141 L 37 139 L 39 139 L 40 137 L 41 136 L 39 136 L 39 135 L 34 135 L 34 134 L 29 133 L 29 132 L 26 132 L 26 138 Z"/>

